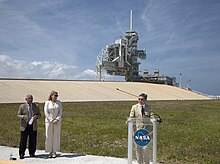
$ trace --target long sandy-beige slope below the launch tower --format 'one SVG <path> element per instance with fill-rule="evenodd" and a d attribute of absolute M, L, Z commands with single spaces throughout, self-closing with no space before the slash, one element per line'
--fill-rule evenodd
<path fill-rule="evenodd" d="M 119 90 L 116 90 L 119 88 Z M 169 85 L 138 82 L 98 82 L 98 81 L 50 81 L 50 80 L 5 80 L 0 79 L 0 103 L 24 102 L 27 93 L 34 101 L 44 102 L 49 92 L 59 92 L 62 102 L 74 101 L 129 101 L 142 92 L 148 100 L 203 100 L 207 96 Z M 125 92 L 123 92 L 125 91 Z"/>

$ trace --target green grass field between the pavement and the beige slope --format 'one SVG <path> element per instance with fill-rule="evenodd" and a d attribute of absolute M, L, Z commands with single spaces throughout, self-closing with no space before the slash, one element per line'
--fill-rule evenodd
<path fill-rule="evenodd" d="M 136 102 L 63 103 L 61 151 L 126 158 L 127 125 Z M 150 101 L 163 122 L 158 127 L 158 161 L 220 162 L 220 101 Z M 20 104 L 0 104 L 0 145 L 18 147 Z M 43 104 L 38 149 L 44 149 Z"/>

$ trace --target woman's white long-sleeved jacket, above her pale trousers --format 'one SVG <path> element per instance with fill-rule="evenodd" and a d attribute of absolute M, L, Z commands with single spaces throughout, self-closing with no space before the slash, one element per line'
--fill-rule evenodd
<path fill-rule="evenodd" d="M 55 104 L 52 101 L 46 101 L 44 104 L 45 122 L 52 122 L 54 119 L 61 120 L 62 104 L 56 100 Z"/>

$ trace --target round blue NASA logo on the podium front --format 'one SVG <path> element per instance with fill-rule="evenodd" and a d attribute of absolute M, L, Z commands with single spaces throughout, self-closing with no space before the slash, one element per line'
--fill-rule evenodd
<path fill-rule="evenodd" d="M 134 142 L 141 147 L 147 146 L 151 141 L 151 136 L 148 130 L 140 129 L 134 134 Z"/>

